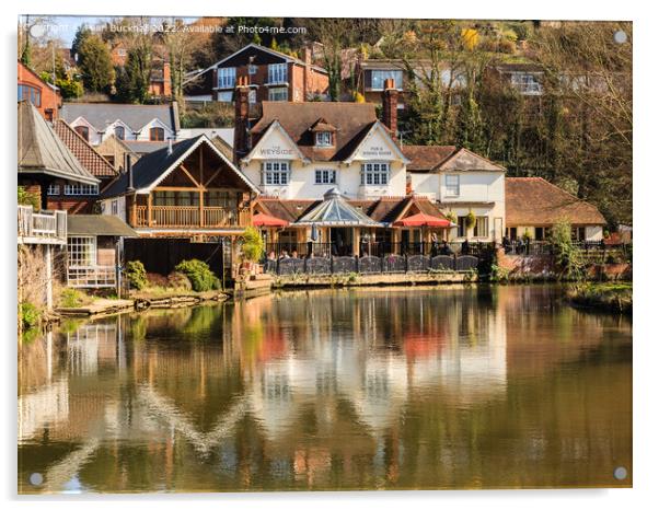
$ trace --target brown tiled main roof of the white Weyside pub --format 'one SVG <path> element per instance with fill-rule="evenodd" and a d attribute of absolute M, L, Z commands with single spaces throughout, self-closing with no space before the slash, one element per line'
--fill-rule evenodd
<path fill-rule="evenodd" d="M 369 103 L 264 101 L 262 109 L 261 118 L 251 129 L 252 135 L 261 137 L 277 120 L 300 151 L 312 161 L 344 161 L 378 123 L 375 106 Z M 315 148 L 310 128 L 319 118 L 337 128 L 334 148 Z"/>

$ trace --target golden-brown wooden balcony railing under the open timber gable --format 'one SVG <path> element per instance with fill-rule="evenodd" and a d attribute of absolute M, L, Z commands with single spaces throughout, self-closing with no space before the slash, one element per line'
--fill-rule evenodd
<path fill-rule="evenodd" d="M 250 224 L 248 208 L 199 206 L 135 206 L 134 227 L 152 229 L 244 228 Z"/>

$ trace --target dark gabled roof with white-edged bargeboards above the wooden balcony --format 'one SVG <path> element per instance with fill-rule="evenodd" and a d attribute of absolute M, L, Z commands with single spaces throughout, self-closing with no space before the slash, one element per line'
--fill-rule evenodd
<path fill-rule="evenodd" d="M 187 140 L 180 141 L 172 144 L 172 151 L 170 152 L 169 147 L 142 155 L 132 165 L 132 186 L 136 193 L 149 193 L 155 187 L 163 178 L 165 178 L 172 171 L 185 161 L 185 159 L 195 151 L 200 144 L 205 143 L 210 147 L 212 151 L 229 166 L 230 170 L 235 172 L 241 181 L 243 181 L 252 192 L 258 194 L 258 188 L 252 184 L 252 182 L 238 170 L 231 160 L 229 160 L 216 146 L 212 143 L 206 135 L 200 135 L 196 138 L 189 138 Z M 112 182 L 105 192 L 102 194 L 102 198 L 114 197 L 124 195 L 128 189 L 128 174 L 123 173 L 114 182 Z"/>

